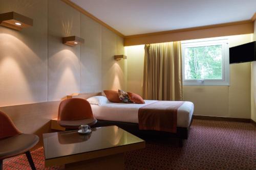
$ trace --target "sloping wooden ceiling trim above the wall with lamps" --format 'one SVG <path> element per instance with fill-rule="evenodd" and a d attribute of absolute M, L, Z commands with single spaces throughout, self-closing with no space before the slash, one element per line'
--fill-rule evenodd
<path fill-rule="evenodd" d="M 112 28 L 111 26 L 109 26 L 108 24 L 106 24 L 105 22 L 103 22 L 102 20 L 98 19 L 97 17 L 95 17 L 94 15 L 92 15 L 91 13 L 89 13 L 88 11 L 82 9 L 81 7 L 79 7 L 78 5 L 76 5 L 75 3 L 71 2 L 70 0 L 61 0 L 62 2 L 68 4 L 69 6 L 71 6 L 72 8 L 76 9 L 77 11 L 81 12 L 82 14 L 90 17 L 91 19 L 95 20 L 96 22 L 100 23 L 102 26 L 108 28 L 109 30 L 113 31 L 114 33 L 116 33 L 117 35 L 119 35 L 120 37 L 124 37 L 124 35 L 122 33 L 120 33 L 119 31 L 115 30 L 114 28 Z"/>

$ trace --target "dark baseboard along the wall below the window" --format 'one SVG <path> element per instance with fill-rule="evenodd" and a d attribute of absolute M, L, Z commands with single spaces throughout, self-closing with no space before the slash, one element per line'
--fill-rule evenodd
<path fill-rule="evenodd" d="M 218 116 L 203 116 L 203 115 L 193 115 L 193 118 L 201 119 L 201 120 L 217 120 L 217 121 L 243 122 L 243 123 L 252 123 L 251 121 L 253 121 L 250 118 L 233 118 L 233 117 L 218 117 Z"/>

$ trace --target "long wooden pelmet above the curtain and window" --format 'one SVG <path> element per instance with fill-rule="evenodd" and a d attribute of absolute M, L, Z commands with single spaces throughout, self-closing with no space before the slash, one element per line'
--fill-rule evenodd
<path fill-rule="evenodd" d="M 253 32 L 253 22 L 251 20 L 245 20 L 239 22 L 223 23 L 220 25 L 210 25 L 204 27 L 125 36 L 124 46 L 251 34 Z"/>

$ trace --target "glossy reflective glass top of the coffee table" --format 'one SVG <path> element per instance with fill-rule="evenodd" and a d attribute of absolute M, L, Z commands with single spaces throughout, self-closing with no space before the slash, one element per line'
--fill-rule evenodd
<path fill-rule="evenodd" d="M 45 133 L 42 136 L 46 159 L 144 142 L 117 126 L 93 128 L 92 133 L 88 135 L 79 134 L 74 130 Z"/>

